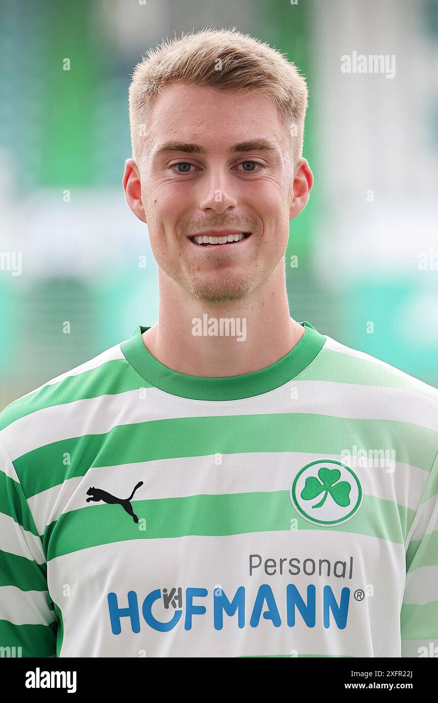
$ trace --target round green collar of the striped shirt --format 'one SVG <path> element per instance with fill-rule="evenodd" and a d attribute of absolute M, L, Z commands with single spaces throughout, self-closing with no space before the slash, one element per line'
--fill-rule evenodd
<path fill-rule="evenodd" d="M 314 361 L 326 342 L 326 336 L 309 322 L 300 324 L 305 328 L 304 335 L 288 354 L 270 366 L 236 376 L 191 376 L 167 368 L 146 349 L 141 335 L 150 328 L 142 325 L 129 340 L 122 342 L 122 354 L 148 385 L 166 393 L 193 400 L 240 400 L 279 388 Z"/>

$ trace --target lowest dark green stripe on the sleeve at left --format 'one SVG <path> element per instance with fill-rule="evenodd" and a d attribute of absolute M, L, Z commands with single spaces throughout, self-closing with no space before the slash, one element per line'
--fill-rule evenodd
<path fill-rule="evenodd" d="M 22 657 L 51 657 L 56 652 L 56 621 L 49 625 L 14 625 L 0 620 L 0 647 L 22 647 Z"/>

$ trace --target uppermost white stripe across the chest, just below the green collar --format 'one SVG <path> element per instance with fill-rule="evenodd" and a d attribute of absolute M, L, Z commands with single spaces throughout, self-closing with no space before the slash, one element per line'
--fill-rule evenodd
<path fill-rule="evenodd" d="M 297 398 L 293 397 L 295 389 Z M 68 437 L 103 434 L 117 425 L 167 418 L 271 413 L 397 420 L 436 431 L 438 441 L 438 398 L 391 387 L 297 379 L 260 396 L 227 402 L 179 398 L 156 388 L 73 401 L 15 420 L 1 430 L 0 441 L 14 460 L 39 446 Z"/>

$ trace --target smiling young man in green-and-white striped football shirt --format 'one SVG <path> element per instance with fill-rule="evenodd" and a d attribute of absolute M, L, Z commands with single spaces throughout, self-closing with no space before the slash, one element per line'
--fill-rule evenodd
<path fill-rule="evenodd" d="M 436 656 L 438 390 L 290 317 L 306 106 L 235 30 L 137 65 L 160 314 L 0 414 L 2 647 Z"/>

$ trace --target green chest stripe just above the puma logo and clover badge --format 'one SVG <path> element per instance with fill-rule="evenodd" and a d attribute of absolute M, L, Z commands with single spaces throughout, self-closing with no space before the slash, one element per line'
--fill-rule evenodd
<path fill-rule="evenodd" d="M 172 418 L 117 425 L 104 434 L 60 439 L 27 452 L 13 464 L 29 498 L 65 479 L 84 476 L 95 466 L 210 456 L 213 450 L 222 454 L 288 451 L 338 455 L 354 445 L 394 449 L 397 461 L 404 463 L 411 463 L 415 456 L 416 466 L 430 471 L 437 453 L 438 432 L 395 420 L 356 420 L 308 413 Z M 70 454 L 69 466 L 63 465 L 65 453 Z M 147 472 L 147 467 L 144 470 Z M 363 469 L 367 470 L 370 471 Z"/>

